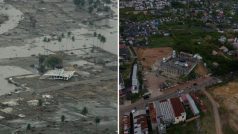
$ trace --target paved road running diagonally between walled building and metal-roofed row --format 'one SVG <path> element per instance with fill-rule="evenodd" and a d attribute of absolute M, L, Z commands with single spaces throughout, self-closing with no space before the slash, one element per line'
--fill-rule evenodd
<path fill-rule="evenodd" d="M 120 115 L 122 116 L 126 112 L 130 112 L 134 108 L 145 108 L 146 104 L 151 101 L 156 101 L 156 100 L 163 100 L 163 99 L 168 99 L 172 97 L 178 97 L 182 94 L 187 94 L 193 91 L 201 90 L 204 89 L 206 86 L 215 84 L 217 82 L 217 79 L 213 77 L 201 77 L 196 80 L 188 81 L 179 85 L 176 85 L 174 87 L 171 87 L 169 89 L 166 89 L 163 95 L 156 96 L 153 98 L 150 98 L 148 100 L 140 99 L 135 103 L 132 103 L 129 106 L 120 106 Z M 196 85 L 194 85 L 196 83 Z M 180 91 L 178 91 L 180 90 Z"/>

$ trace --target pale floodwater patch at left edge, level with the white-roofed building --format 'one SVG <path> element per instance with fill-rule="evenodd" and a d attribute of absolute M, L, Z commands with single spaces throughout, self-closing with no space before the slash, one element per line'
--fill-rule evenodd
<path fill-rule="evenodd" d="M 31 72 L 14 66 L 0 66 L 0 95 L 7 94 L 16 89 L 16 86 L 8 83 L 5 78 L 24 74 L 31 74 Z"/>

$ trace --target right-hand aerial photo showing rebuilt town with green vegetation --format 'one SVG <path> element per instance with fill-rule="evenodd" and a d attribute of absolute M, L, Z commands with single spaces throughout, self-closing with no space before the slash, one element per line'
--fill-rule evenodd
<path fill-rule="evenodd" d="M 238 1 L 119 1 L 120 134 L 238 134 Z"/>

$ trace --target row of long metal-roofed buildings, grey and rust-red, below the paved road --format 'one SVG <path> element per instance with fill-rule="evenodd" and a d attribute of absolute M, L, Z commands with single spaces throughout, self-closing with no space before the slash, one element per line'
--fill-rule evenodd
<path fill-rule="evenodd" d="M 131 113 L 124 114 L 123 132 L 148 134 L 148 126 L 151 125 L 152 130 L 165 134 L 166 128 L 171 125 L 198 118 L 200 114 L 198 106 L 204 108 L 200 100 L 190 94 L 150 102 L 146 109 L 135 109 Z"/>

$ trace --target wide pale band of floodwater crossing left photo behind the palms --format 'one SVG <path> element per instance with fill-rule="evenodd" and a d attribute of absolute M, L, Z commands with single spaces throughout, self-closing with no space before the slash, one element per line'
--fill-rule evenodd
<path fill-rule="evenodd" d="M 81 28 L 72 31 L 75 41 L 72 41 L 71 37 L 65 37 L 60 42 L 58 40 L 44 42 L 44 37 L 39 37 L 33 40 L 25 41 L 26 44 L 24 46 L 2 47 L 0 48 L 0 59 L 29 57 L 31 55 L 38 54 L 48 55 L 52 52 L 65 50 L 73 50 L 75 54 L 84 55 L 88 52 L 88 49 L 86 50 L 84 48 L 92 47 L 93 45 L 113 54 L 117 54 L 117 33 L 113 29 L 97 30 L 97 33 L 106 37 L 105 43 L 100 43 L 97 38 L 92 37 L 93 33 L 93 29 Z M 66 35 L 67 33 L 64 34 Z M 91 36 L 88 36 L 88 34 Z"/>

